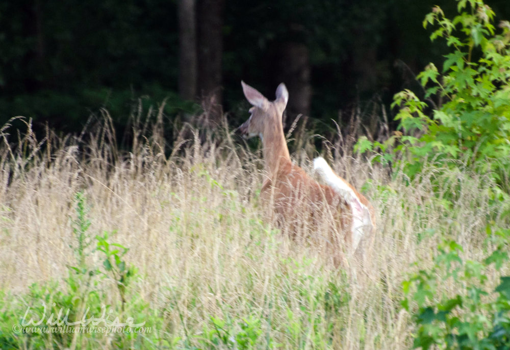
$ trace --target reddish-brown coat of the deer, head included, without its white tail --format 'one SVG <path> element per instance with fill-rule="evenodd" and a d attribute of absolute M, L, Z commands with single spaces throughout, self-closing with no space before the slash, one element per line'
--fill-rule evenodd
<path fill-rule="evenodd" d="M 262 139 L 268 178 L 262 185 L 261 199 L 272 204 L 271 217 L 292 231 L 291 234 L 295 235 L 299 231 L 299 223 L 303 224 L 302 219 L 306 218 L 309 226 L 316 228 L 315 234 L 322 235 L 327 241 L 328 251 L 333 248 L 334 260 L 338 265 L 342 259 L 340 246 L 343 241 L 350 244 L 348 233 L 352 225 L 352 214 L 349 203 L 331 187 L 319 184 L 303 169 L 292 164 L 282 125 L 282 114 L 288 99 L 285 85 L 278 86 L 276 100 L 273 102 L 250 86 L 244 83 L 242 86 L 253 107 L 250 109 L 250 118 L 238 130 L 245 137 L 260 136 Z M 373 211 L 368 200 L 352 185 L 348 185 L 360 202 Z M 334 224 L 324 225 L 325 222 Z M 317 232 L 321 229 L 328 231 L 326 235 Z M 342 239 L 338 239 L 338 236 Z"/>

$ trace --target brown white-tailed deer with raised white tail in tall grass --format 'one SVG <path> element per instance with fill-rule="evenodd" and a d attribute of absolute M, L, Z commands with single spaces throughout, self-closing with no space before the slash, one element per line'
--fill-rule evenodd
<path fill-rule="evenodd" d="M 292 163 L 282 122 L 289 99 L 284 83 L 278 85 L 274 101 L 269 101 L 244 82 L 241 85 L 252 107 L 250 117 L 237 132 L 245 139 L 259 137 L 262 140 L 267 177 L 262 184 L 260 199 L 272 204 L 271 213 L 276 214 L 280 223 L 300 215 L 301 218 L 311 218 L 315 226 L 320 227 L 318 221 L 327 220 L 322 213 L 329 212 L 329 218 L 334 218 L 336 232 L 340 233 L 327 237 L 330 246 L 338 250 L 338 244 L 345 244 L 346 251 L 356 252 L 360 242 L 375 230 L 373 206 L 354 186 L 335 174 L 324 158 L 315 158 L 313 166 L 325 184 L 315 181 Z M 338 265 L 338 259 L 336 261 Z"/>

